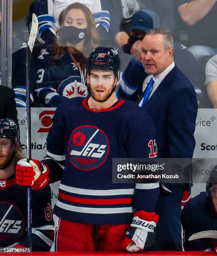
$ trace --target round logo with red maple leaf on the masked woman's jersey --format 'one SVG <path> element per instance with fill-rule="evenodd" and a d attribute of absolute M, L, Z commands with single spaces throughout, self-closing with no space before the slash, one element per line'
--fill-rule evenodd
<path fill-rule="evenodd" d="M 58 87 L 58 94 L 69 99 L 74 97 L 86 97 L 87 87 L 81 83 L 81 77 L 68 77 Z"/>

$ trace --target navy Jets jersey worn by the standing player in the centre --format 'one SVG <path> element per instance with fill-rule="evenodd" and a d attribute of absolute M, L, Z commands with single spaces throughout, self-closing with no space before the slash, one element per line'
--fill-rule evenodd
<path fill-rule="evenodd" d="M 72 222 L 131 223 L 134 210 L 154 211 L 159 184 L 112 183 L 112 159 L 149 158 L 154 125 L 134 102 L 99 110 L 87 101 L 61 104 L 48 133 L 43 163 L 50 182 L 61 179 L 54 212 Z"/>

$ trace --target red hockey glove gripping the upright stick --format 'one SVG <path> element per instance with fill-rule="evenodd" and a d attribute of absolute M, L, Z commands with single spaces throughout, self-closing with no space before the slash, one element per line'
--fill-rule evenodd
<path fill-rule="evenodd" d="M 16 183 L 20 186 L 31 186 L 33 190 L 43 189 L 49 182 L 48 166 L 31 159 L 21 159 L 16 165 Z"/>

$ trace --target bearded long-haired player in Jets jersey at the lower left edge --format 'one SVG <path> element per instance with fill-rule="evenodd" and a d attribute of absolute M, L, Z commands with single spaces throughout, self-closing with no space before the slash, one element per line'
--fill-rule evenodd
<path fill-rule="evenodd" d="M 15 165 L 24 157 L 12 119 L 0 119 L 0 247 L 28 247 L 27 191 L 15 181 Z M 50 251 L 53 244 L 51 191 L 32 192 L 32 250 Z"/>

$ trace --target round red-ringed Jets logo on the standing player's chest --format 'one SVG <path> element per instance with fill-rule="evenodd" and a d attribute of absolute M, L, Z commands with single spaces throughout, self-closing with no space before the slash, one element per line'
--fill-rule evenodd
<path fill-rule="evenodd" d="M 109 154 L 109 139 L 93 125 L 76 128 L 68 141 L 68 154 L 73 166 L 90 171 L 101 166 Z"/>

